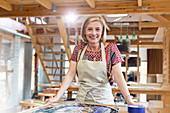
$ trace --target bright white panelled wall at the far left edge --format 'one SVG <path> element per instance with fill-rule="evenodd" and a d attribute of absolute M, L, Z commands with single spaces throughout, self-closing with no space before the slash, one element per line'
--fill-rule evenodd
<path fill-rule="evenodd" d="M 0 109 L 19 105 L 23 98 L 24 76 L 24 42 L 19 36 L 14 40 L 2 38 L 0 66 L 6 66 L 7 71 L 0 72 L 4 76 L 4 80 L 0 79 Z"/>

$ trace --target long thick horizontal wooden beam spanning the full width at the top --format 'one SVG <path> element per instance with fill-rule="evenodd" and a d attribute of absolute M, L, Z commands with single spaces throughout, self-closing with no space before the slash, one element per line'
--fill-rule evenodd
<path fill-rule="evenodd" d="M 136 5 L 134 2 L 96 2 L 95 9 L 89 7 L 86 2 L 74 4 L 56 4 L 57 12 L 52 12 L 45 7 L 36 5 L 23 6 L 23 11 L 19 11 L 19 6 L 14 6 L 14 11 L 4 11 L 0 9 L 0 17 L 40 17 L 40 16 L 61 16 L 68 12 L 74 12 L 77 15 L 94 14 L 168 14 L 170 13 L 170 1 L 143 1 L 143 6 L 147 10 Z"/>

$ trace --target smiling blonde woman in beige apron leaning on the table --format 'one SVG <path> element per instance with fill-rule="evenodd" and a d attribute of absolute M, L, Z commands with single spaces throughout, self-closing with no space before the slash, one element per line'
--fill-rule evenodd
<path fill-rule="evenodd" d="M 139 105 L 130 98 L 121 71 L 123 59 L 113 43 L 106 43 L 106 22 L 101 16 L 88 17 L 81 27 L 84 44 L 74 48 L 70 68 L 60 90 L 54 98 L 46 103 L 57 102 L 70 86 L 76 72 L 79 78 L 77 103 L 114 104 L 111 84 L 114 78 L 128 104 Z"/>

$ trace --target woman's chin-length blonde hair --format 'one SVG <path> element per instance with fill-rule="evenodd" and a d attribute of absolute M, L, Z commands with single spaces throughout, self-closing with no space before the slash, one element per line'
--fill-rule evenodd
<path fill-rule="evenodd" d="M 108 26 L 107 26 L 107 24 L 106 24 L 106 22 L 105 22 L 105 20 L 102 16 L 95 15 L 95 16 L 89 16 L 81 26 L 81 32 L 80 33 L 81 33 L 81 36 L 82 36 L 84 42 L 86 42 L 86 43 L 88 42 L 88 40 L 86 38 L 86 35 L 84 34 L 85 29 L 90 22 L 95 22 L 95 21 L 99 21 L 103 25 L 103 33 L 102 33 L 102 36 L 101 36 L 101 41 L 102 42 L 106 41 L 106 38 L 107 38 L 106 29 L 108 29 Z"/>

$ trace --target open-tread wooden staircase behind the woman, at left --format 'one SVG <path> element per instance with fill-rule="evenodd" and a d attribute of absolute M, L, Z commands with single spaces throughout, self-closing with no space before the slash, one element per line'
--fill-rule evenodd
<path fill-rule="evenodd" d="M 66 28 L 61 17 L 56 18 L 57 24 L 42 24 L 42 19 L 40 20 L 41 24 L 33 23 L 30 18 L 25 19 L 24 22 L 49 83 L 61 83 L 65 76 L 65 69 L 68 69 L 65 63 L 71 58 Z M 59 32 L 51 33 L 48 30 L 55 28 L 58 28 Z M 64 46 L 64 50 L 61 46 Z"/>

